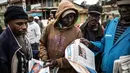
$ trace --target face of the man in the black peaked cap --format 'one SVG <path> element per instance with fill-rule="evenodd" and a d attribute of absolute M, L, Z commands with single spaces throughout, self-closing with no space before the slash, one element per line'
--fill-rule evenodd
<path fill-rule="evenodd" d="M 100 19 L 100 14 L 90 13 L 88 15 L 88 27 L 92 31 L 97 31 L 98 30 L 99 19 Z"/>

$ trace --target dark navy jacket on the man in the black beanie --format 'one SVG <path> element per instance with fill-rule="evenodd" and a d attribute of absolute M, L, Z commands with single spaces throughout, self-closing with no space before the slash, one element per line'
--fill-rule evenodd
<path fill-rule="evenodd" d="M 27 40 L 27 39 L 26 39 Z M 28 56 L 22 53 L 19 44 L 9 27 L 0 35 L 0 73 L 28 73 L 28 60 L 31 56 L 31 47 L 28 42 Z"/>

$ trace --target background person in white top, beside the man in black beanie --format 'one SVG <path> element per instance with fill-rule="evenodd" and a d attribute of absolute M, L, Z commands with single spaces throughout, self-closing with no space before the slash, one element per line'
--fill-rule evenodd
<path fill-rule="evenodd" d="M 34 21 L 32 16 L 29 17 L 29 23 L 27 28 L 27 37 L 31 43 L 33 56 L 35 59 L 38 58 L 39 40 L 41 38 L 41 32 L 39 25 Z"/>

